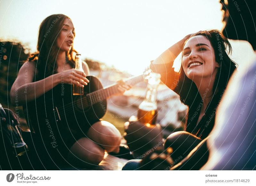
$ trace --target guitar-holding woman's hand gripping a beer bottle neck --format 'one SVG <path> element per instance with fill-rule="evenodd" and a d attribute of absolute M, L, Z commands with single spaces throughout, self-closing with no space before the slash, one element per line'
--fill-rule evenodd
<path fill-rule="evenodd" d="M 61 72 L 60 79 L 61 83 L 75 84 L 80 87 L 84 87 L 84 85 L 87 85 L 87 83 L 89 83 L 89 80 L 86 78 L 86 74 L 74 68 Z"/>

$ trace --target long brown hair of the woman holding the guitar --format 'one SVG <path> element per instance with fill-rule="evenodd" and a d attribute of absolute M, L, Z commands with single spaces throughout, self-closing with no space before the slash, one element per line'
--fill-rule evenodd
<path fill-rule="evenodd" d="M 30 55 L 28 61 L 37 62 L 36 74 L 40 79 L 48 77 L 57 72 L 57 64 L 55 63 L 59 48 L 57 46 L 57 37 L 63 27 L 65 19 L 70 19 L 63 14 L 50 15 L 43 20 L 39 28 L 37 51 Z M 71 19 L 70 19 L 71 20 Z M 66 56 L 68 63 L 74 65 L 76 50 L 71 49 Z"/>

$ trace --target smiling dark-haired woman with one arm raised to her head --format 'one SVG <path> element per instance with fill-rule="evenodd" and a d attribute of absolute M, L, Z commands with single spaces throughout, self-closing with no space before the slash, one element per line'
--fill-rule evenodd
<path fill-rule="evenodd" d="M 182 48 L 182 51 L 180 50 Z M 180 72 L 174 59 L 182 52 Z M 188 105 L 185 131 L 204 139 L 211 132 L 215 111 L 236 64 L 228 57 L 231 45 L 218 30 L 187 35 L 151 64 L 161 80 Z M 173 86 L 173 82 L 177 82 Z"/>

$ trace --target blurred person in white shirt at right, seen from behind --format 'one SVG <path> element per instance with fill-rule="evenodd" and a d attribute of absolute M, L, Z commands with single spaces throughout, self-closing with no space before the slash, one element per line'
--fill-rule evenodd
<path fill-rule="evenodd" d="M 237 4 L 231 0 L 220 1 L 224 13 L 222 33 L 229 39 L 246 40 L 251 43 L 253 50 L 256 50 L 254 26 L 256 1 L 240 0 L 236 2 Z M 171 156 L 166 152 L 162 153 L 161 150 L 153 151 L 142 161 L 128 162 L 127 165 L 130 164 L 132 167 L 124 167 L 124 170 L 198 170 L 203 166 L 202 169 L 204 170 L 254 170 L 256 168 L 255 60 L 241 67 L 231 79 L 232 81 L 228 84 L 227 91 L 217 110 L 212 133 L 204 140 L 199 141 L 194 149 L 191 150 L 188 146 L 186 157 L 176 161 L 172 157 L 173 151 L 169 152 Z M 127 135 L 130 132 L 128 127 Z M 157 134 L 157 132 L 155 133 Z M 151 136 L 151 138 L 148 135 L 145 136 L 150 143 L 159 143 L 159 139 L 155 136 Z M 189 136 L 179 138 L 173 133 L 168 137 L 170 139 L 167 138 L 164 147 L 168 151 L 168 147 L 177 141 L 182 146 Z M 195 142 L 195 138 L 192 137 L 192 141 Z M 128 141 L 127 143 L 132 142 Z"/>

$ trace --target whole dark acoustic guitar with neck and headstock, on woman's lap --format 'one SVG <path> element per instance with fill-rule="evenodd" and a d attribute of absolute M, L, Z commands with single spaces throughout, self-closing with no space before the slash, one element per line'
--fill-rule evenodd
<path fill-rule="evenodd" d="M 106 99 L 120 94 L 119 84 L 103 89 L 96 77 L 87 76 L 87 79 L 90 82 L 84 86 L 83 96 L 73 96 L 73 85 L 60 83 L 23 105 L 28 127 L 50 150 L 61 144 L 70 148 L 76 140 L 86 136 L 89 128 L 107 112 Z M 133 86 L 143 80 L 144 75 L 140 75 L 124 83 Z"/>

